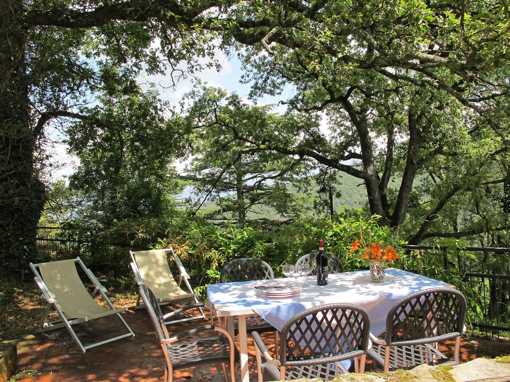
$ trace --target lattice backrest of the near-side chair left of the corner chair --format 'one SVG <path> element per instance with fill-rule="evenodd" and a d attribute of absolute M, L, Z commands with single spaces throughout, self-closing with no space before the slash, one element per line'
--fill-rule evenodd
<path fill-rule="evenodd" d="M 282 366 L 327 364 L 368 351 L 370 318 L 353 304 L 325 304 L 294 315 L 284 325 L 279 358 Z"/>

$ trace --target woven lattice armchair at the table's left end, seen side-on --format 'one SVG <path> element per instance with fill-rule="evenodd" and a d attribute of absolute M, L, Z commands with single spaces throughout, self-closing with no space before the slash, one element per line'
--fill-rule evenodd
<path fill-rule="evenodd" d="M 187 332 L 178 334 L 174 337 L 168 335 L 165 320 L 175 314 L 179 314 L 187 309 L 198 308 L 203 304 L 192 304 L 184 308 L 174 310 L 166 315 L 163 315 L 159 306 L 159 300 L 154 293 L 146 286 L 140 285 L 138 293 L 143 300 L 150 320 L 156 330 L 156 335 L 163 348 L 165 354 L 166 367 L 165 367 L 165 381 L 172 382 L 173 371 L 179 369 L 186 369 L 189 367 L 199 365 L 211 365 L 221 363 L 223 368 L 223 376 L 225 382 L 235 382 L 236 378 L 236 362 L 239 361 L 239 352 L 232 336 L 228 332 L 218 326 L 205 325 L 200 328 L 192 329 Z M 201 332 L 219 332 L 219 337 L 200 338 L 198 340 L 180 342 L 186 337 L 196 335 Z M 231 380 L 228 380 L 226 373 L 226 364 L 230 365 Z"/>

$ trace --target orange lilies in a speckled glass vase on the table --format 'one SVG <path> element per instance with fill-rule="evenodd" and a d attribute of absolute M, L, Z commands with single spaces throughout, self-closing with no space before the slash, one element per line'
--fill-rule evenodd
<path fill-rule="evenodd" d="M 363 238 L 363 232 L 360 229 L 360 240 L 355 240 L 351 244 L 349 253 L 363 251 L 362 259 L 367 259 L 370 265 L 370 279 L 374 283 L 380 283 L 385 278 L 385 265 L 386 261 L 390 264 L 393 259 L 400 259 L 397 254 L 397 250 L 388 245 L 386 249 L 381 248 L 381 243 L 371 242 L 372 235 L 369 232 L 369 241 L 365 241 Z"/>

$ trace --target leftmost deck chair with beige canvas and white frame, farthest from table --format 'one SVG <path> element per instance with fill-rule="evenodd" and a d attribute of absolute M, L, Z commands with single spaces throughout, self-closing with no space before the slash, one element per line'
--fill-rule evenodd
<path fill-rule="evenodd" d="M 94 285 L 94 290 L 91 294 L 85 289 L 82 280 L 80 280 L 75 263 L 80 264 Z M 120 312 L 126 311 L 127 308 L 115 309 L 110 299 L 105 294 L 106 288 L 99 284 L 99 281 L 95 278 L 90 269 L 87 269 L 79 257 L 40 264 L 30 263 L 30 268 L 34 271 L 36 275 L 34 280 L 39 286 L 39 289 L 41 289 L 42 296 L 48 303 L 39 329 L 36 331 L 37 333 L 63 328 L 65 326 L 83 353 L 86 349 L 90 349 L 91 347 L 103 345 L 121 338 L 135 337 L 131 328 L 120 315 Z M 39 268 L 40 274 L 37 268 Z M 102 307 L 94 301 L 94 296 L 97 293 L 101 294 L 109 308 Z M 46 322 L 52 308 L 57 311 L 60 319 Z M 116 314 L 119 317 L 129 333 L 84 346 L 71 327 L 71 325 L 77 323 L 109 316 L 111 314 Z"/>

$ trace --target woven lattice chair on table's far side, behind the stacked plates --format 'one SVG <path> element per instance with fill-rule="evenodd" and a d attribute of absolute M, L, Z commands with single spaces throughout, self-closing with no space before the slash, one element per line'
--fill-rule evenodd
<path fill-rule="evenodd" d="M 259 259 L 243 258 L 231 261 L 226 264 L 223 269 L 221 269 L 220 274 L 220 283 L 270 279 L 274 279 L 274 272 L 271 269 L 271 266 L 265 261 Z M 237 317 L 234 317 L 234 331 L 237 336 Z M 274 335 L 278 338 L 278 331 L 276 328 L 259 316 L 246 318 L 246 332 L 251 333 L 253 331 L 259 333 L 274 332 Z"/>

